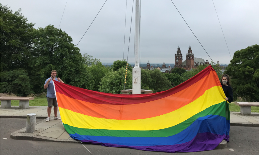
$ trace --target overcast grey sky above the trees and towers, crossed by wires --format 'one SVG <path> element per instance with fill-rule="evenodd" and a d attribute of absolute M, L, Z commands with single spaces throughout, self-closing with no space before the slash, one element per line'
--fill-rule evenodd
<path fill-rule="evenodd" d="M 34 28 L 51 24 L 73 38 L 76 45 L 105 0 L 1 0 L 13 11 L 21 8 Z M 124 59 L 127 60 L 133 0 L 127 0 Z M 228 43 L 225 43 L 212 0 L 173 0 L 187 24 L 214 62 L 229 64 L 237 50 L 259 44 L 258 0 L 214 0 Z M 103 63 L 123 59 L 126 0 L 107 0 L 78 47 Z M 134 59 L 135 0 L 128 62 Z M 141 64 L 175 63 L 180 46 L 184 60 L 189 45 L 194 57 L 209 57 L 170 0 L 141 0 Z M 208 59 L 211 61 L 210 59 Z"/>

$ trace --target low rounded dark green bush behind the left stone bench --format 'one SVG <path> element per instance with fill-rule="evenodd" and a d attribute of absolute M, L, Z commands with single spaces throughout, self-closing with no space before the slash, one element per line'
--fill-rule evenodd
<path fill-rule="evenodd" d="M 25 70 L 4 71 L 1 73 L 1 93 L 13 93 L 26 96 L 31 90 L 30 78 Z"/>

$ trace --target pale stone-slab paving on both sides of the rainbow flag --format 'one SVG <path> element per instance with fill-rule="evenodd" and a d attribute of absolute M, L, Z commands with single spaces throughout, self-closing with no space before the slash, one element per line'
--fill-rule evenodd
<path fill-rule="evenodd" d="M 37 118 L 47 118 L 47 107 L 30 106 L 27 109 L 19 109 L 19 106 L 11 108 L 1 108 L 1 117 L 26 117 L 29 113 L 36 113 Z M 58 112 L 58 116 L 60 113 Z M 240 112 L 230 112 L 231 126 L 259 126 L 259 113 L 251 113 L 251 115 L 241 115 Z M 46 141 L 62 141 L 75 142 L 65 131 L 61 121 L 54 120 L 54 111 L 52 108 L 50 122 L 42 120 L 37 122 L 36 131 L 34 133 L 25 133 L 25 128 L 15 131 L 11 134 L 13 139 L 28 140 L 46 140 Z"/>

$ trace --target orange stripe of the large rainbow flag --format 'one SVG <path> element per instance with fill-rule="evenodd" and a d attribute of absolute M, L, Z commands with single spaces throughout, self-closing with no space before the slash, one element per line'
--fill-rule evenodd
<path fill-rule="evenodd" d="M 210 72 L 200 81 L 173 95 L 139 104 L 95 104 L 76 100 L 58 92 L 56 95 L 58 104 L 61 108 L 65 108 L 76 113 L 117 120 L 144 119 L 170 113 L 193 102 L 213 86 L 221 86 L 219 80 L 215 79 L 218 77 L 217 75 L 215 76 L 215 74 L 215 72 Z M 208 80 L 210 82 L 206 82 Z M 107 109 L 109 109 L 109 111 L 107 111 Z M 132 113 L 133 111 L 134 114 Z"/>

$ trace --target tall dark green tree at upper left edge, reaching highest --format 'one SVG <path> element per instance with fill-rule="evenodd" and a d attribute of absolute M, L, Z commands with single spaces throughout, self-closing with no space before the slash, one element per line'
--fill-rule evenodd
<path fill-rule="evenodd" d="M 13 12 L 1 4 L 1 72 L 24 68 L 29 70 L 32 48 L 32 23 L 21 9 Z"/>

